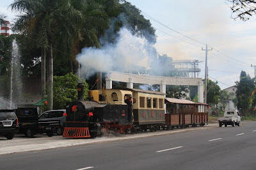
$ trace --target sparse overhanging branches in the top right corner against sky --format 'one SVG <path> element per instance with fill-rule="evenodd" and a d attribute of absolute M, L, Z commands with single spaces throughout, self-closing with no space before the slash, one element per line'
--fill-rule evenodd
<path fill-rule="evenodd" d="M 226 0 L 230 4 L 230 9 L 234 13 L 234 19 L 243 21 L 249 20 L 252 15 L 256 14 L 255 0 Z"/>

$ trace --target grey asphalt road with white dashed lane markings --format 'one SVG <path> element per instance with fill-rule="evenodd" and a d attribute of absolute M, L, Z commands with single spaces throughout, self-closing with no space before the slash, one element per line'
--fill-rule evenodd
<path fill-rule="evenodd" d="M 1 155 L 0 169 L 256 169 L 256 122 Z"/>

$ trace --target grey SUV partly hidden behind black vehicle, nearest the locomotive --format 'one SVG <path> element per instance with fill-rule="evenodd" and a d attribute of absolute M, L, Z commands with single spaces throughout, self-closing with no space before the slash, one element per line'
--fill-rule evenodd
<path fill-rule="evenodd" d="M 61 109 L 61 110 L 52 110 L 52 111 L 46 111 L 43 112 L 40 116 L 39 116 L 39 120 L 40 122 L 51 122 L 51 123 L 57 123 L 60 126 L 56 126 L 56 128 L 54 128 L 53 132 L 56 133 L 57 135 L 62 135 L 63 134 L 63 123 L 66 123 L 66 116 L 64 116 L 63 114 L 65 114 L 66 110 L 65 109 Z"/>

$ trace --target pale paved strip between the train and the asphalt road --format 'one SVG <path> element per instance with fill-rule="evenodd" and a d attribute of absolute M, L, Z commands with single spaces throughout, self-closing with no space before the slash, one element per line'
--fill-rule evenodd
<path fill-rule="evenodd" d="M 65 139 L 60 135 L 48 137 L 47 135 L 35 135 L 34 138 L 27 138 L 24 135 L 16 135 L 12 140 L 0 137 L 0 155 L 8 153 L 19 153 L 24 151 L 47 150 L 82 144 L 109 143 L 113 141 L 123 141 L 141 137 L 152 137 L 156 135 L 168 135 L 180 132 L 189 132 L 218 127 L 217 123 L 206 125 L 205 127 L 175 128 L 173 130 L 160 130 L 157 132 L 147 132 L 138 134 L 116 134 L 108 137 L 97 137 L 95 139 Z"/>

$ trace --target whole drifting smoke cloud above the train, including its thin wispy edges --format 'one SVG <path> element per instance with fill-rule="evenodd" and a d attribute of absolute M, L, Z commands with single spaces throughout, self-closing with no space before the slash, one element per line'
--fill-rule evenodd
<path fill-rule="evenodd" d="M 113 30 L 113 27 L 109 30 Z M 115 42 L 109 43 L 106 38 L 102 38 L 101 48 L 85 47 L 77 55 L 83 77 L 109 71 L 159 75 L 172 67 L 170 63 L 164 63 L 172 61 L 172 58 L 160 56 L 153 43 L 146 38 L 132 35 L 126 27 L 122 27 L 116 34 L 109 30 L 106 31 L 107 39 L 109 35 L 111 38 L 115 35 Z"/>

